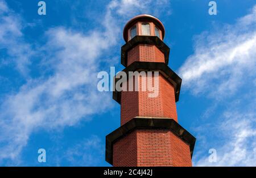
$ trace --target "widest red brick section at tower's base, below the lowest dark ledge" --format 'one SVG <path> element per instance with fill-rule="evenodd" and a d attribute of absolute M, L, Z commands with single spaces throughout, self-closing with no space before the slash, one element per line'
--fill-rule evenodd
<path fill-rule="evenodd" d="M 113 166 L 192 166 L 189 145 L 170 130 L 134 130 L 113 149 Z"/>

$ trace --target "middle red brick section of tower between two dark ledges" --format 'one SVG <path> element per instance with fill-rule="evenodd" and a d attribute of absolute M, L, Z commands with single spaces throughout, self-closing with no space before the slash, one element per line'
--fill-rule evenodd
<path fill-rule="evenodd" d="M 154 83 L 154 77 L 152 79 Z M 168 117 L 177 121 L 174 87 L 159 73 L 159 93 L 149 98 L 151 91 L 142 91 L 142 77 L 139 79 L 140 91 L 122 91 L 121 125 L 136 116 Z"/>

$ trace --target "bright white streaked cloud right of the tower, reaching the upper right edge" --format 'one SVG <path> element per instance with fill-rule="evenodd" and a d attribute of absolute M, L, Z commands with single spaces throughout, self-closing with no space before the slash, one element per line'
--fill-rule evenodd
<path fill-rule="evenodd" d="M 234 94 L 244 78 L 255 77 L 255 16 L 256 6 L 236 24 L 197 37 L 195 54 L 179 70 L 183 86 L 194 94 L 206 92 L 221 98 Z"/>

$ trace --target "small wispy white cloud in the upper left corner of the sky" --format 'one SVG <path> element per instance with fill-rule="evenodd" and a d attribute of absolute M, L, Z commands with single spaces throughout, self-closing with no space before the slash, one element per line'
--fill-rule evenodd
<path fill-rule="evenodd" d="M 16 63 L 16 69 L 27 75 L 27 65 L 34 53 L 30 44 L 23 39 L 22 24 L 19 15 L 11 11 L 5 1 L 0 1 L 0 50 L 5 50 L 7 57 L 0 58 L 0 67 Z"/>

